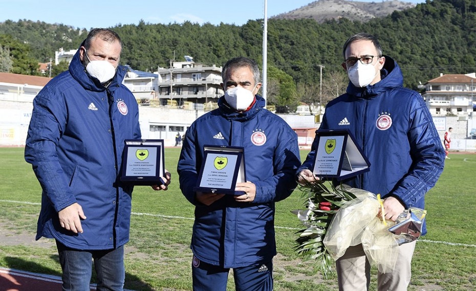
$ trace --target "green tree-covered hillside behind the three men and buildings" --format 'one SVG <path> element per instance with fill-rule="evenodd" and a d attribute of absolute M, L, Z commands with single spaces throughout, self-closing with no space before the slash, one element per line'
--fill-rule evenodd
<path fill-rule="evenodd" d="M 141 21 L 138 25 L 118 25 L 112 29 L 124 42 L 121 62 L 137 70 L 168 67 L 170 59 L 175 56 L 181 60 L 184 55 L 203 64 L 221 65 L 239 55 L 262 62 L 262 19 L 249 20 L 243 26 L 190 22 L 163 25 Z M 332 99 L 347 86 L 340 66 L 342 44 L 358 32 L 373 33 L 380 38 L 384 54 L 395 58 L 401 66 L 405 86 L 414 89 L 419 82 L 440 73 L 476 71 L 476 0 L 428 0 L 414 8 L 365 22 L 345 18 L 324 23 L 314 19 L 269 19 L 268 67 L 272 72 L 268 77 L 282 80 L 279 76 L 289 75 L 297 85 L 294 91 L 310 92 L 319 85 L 319 65 L 323 65 L 323 100 Z M 26 43 L 31 58 L 46 62 L 61 47 L 78 48 L 86 31 L 66 25 L 8 20 L 0 24 L 1 34 Z M 2 39 L 0 44 L 5 46 Z M 279 102 L 295 104 L 299 98 Z"/>

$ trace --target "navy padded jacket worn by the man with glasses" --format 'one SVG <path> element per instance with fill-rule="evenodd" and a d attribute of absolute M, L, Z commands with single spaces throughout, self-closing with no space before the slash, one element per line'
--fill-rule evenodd
<path fill-rule="evenodd" d="M 424 209 L 425 194 L 443 171 L 445 152 L 423 98 L 402 86 L 398 64 L 385 56 L 381 73 L 374 85 L 359 88 L 349 82 L 347 93 L 327 105 L 319 129 L 348 129 L 371 163 L 369 172 L 343 183 L 394 196 L 405 208 Z M 298 172 L 312 170 L 315 146 Z"/>

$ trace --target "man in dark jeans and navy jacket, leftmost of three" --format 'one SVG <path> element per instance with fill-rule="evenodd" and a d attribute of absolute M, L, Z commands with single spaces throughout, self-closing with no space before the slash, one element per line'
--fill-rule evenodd
<path fill-rule="evenodd" d="M 122 290 L 123 245 L 129 239 L 133 186 L 118 180 L 125 139 L 140 139 L 139 110 L 123 85 L 122 42 L 94 29 L 69 70 L 33 101 L 25 160 L 42 188 L 36 239 L 54 238 L 63 290 Z M 153 186 L 166 190 L 170 183 Z"/>

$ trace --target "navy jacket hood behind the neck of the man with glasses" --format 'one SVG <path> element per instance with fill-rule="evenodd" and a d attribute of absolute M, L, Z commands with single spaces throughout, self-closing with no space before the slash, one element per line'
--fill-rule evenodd
<path fill-rule="evenodd" d="M 359 98 L 371 98 L 387 91 L 390 88 L 403 86 L 403 75 L 397 62 L 386 55 L 383 69 L 380 70 L 381 80 L 374 85 L 367 85 L 366 87 L 357 87 L 349 81 L 347 86 L 347 93 Z"/>

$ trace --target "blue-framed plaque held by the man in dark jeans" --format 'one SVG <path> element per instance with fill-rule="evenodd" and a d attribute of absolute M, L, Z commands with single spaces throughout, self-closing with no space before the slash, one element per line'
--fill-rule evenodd
<path fill-rule="evenodd" d="M 120 180 L 132 185 L 165 184 L 164 141 L 125 140 Z"/>

